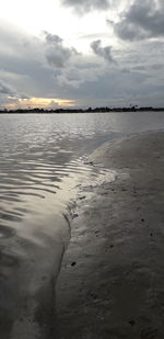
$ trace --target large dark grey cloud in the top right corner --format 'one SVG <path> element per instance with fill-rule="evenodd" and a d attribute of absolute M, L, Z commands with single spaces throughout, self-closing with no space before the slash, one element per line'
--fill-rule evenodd
<path fill-rule="evenodd" d="M 114 30 L 120 38 L 127 41 L 164 36 L 163 0 L 136 0 L 121 13 Z"/>

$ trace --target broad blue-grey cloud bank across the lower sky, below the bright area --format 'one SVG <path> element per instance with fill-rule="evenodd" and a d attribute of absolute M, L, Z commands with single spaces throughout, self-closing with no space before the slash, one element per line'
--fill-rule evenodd
<path fill-rule="evenodd" d="M 33 97 L 75 100 L 86 106 L 164 105 L 162 41 L 118 45 L 113 57 L 101 37 L 91 37 L 94 55 L 84 55 L 49 32 L 35 38 L 19 34 L 8 26 L 0 30 L 1 105 Z M 118 67 L 113 67 L 115 56 Z"/>

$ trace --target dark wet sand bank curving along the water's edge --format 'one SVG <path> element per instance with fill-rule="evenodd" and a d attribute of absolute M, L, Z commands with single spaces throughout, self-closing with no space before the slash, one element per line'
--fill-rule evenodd
<path fill-rule="evenodd" d="M 116 180 L 81 187 L 57 282 L 56 338 L 164 338 L 164 133 L 103 145 L 91 166 Z"/>

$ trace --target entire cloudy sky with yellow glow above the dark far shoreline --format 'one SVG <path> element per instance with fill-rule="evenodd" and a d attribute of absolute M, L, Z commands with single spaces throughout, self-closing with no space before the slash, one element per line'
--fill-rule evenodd
<path fill-rule="evenodd" d="M 0 106 L 164 106 L 163 0 L 2 0 Z"/>

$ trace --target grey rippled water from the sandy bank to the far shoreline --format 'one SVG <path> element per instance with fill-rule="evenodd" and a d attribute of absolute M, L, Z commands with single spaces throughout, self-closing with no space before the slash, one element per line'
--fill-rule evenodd
<path fill-rule="evenodd" d="M 77 185 L 106 173 L 84 165 L 86 156 L 108 139 L 155 129 L 164 129 L 164 113 L 0 115 L 3 339 L 11 332 L 10 338 L 22 338 L 24 327 L 24 339 L 39 331 L 43 316 L 34 321 L 34 310 L 43 300 L 39 291 L 50 290 L 69 241 L 68 203 Z"/>

